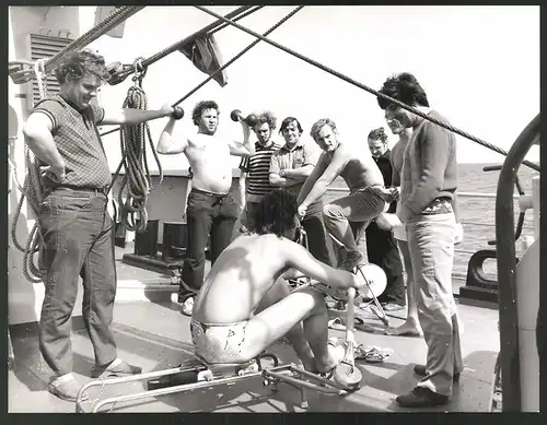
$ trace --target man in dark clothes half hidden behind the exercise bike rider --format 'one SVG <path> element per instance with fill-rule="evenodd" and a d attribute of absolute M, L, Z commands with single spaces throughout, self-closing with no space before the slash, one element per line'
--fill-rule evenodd
<path fill-rule="evenodd" d="M 384 176 L 385 187 L 392 186 L 391 151 L 387 146 L 387 134 L 383 128 L 370 132 L 369 149 Z M 396 208 L 397 202 L 392 202 L 387 213 L 395 213 Z M 406 305 L 405 281 L 403 279 L 403 263 L 393 233 L 391 229 L 379 227 L 374 220 L 366 227 L 365 235 L 369 261 L 380 265 L 387 278 L 385 292 L 379 297 L 379 300 L 386 311 L 400 310 Z"/>

